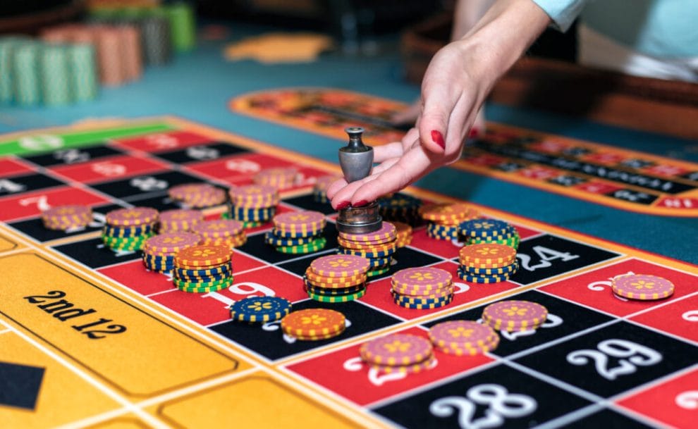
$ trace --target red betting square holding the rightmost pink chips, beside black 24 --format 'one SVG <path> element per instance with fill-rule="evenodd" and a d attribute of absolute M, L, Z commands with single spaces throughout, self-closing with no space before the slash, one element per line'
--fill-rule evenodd
<path fill-rule="evenodd" d="M 668 299 L 659 301 L 637 301 L 617 297 L 611 291 L 611 279 L 616 277 L 616 275 L 628 273 L 659 275 L 659 277 L 671 280 L 675 285 L 674 294 Z M 541 290 L 616 316 L 627 316 L 698 291 L 698 276 L 673 270 L 666 266 L 659 266 L 648 261 L 629 259 L 598 268 L 594 271 L 573 275 L 551 285 L 541 287 Z"/>

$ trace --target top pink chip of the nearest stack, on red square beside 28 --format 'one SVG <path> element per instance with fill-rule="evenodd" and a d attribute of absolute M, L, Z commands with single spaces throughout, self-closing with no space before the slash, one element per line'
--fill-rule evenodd
<path fill-rule="evenodd" d="M 411 365 L 431 357 L 431 342 L 409 334 L 391 334 L 361 344 L 361 359 L 379 365 Z"/>

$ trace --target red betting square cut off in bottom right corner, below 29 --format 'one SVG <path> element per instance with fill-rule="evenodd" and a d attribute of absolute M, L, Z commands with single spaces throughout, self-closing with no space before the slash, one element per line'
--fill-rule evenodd
<path fill-rule="evenodd" d="M 618 404 L 673 428 L 695 428 L 698 369 L 620 399 Z"/>

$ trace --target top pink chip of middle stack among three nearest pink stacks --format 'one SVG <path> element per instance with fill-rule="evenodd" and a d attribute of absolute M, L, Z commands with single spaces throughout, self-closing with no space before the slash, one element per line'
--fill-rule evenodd
<path fill-rule="evenodd" d="M 497 333 L 474 321 L 437 323 L 429 330 L 429 340 L 438 347 L 478 347 L 494 341 Z"/>

